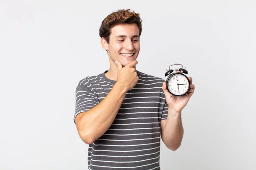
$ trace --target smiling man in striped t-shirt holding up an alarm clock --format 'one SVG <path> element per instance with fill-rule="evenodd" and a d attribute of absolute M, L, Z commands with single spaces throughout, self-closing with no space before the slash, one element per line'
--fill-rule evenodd
<path fill-rule="evenodd" d="M 181 111 L 195 90 L 172 96 L 166 82 L 136 70 L 142 31 L 139 14 L 119 10 L 99 30 L 110 68 L 81 79 L 74 121 L 89 144 L 90 170 L 159 170 L 160 136 L 171 150 L 183 138 Z"/>

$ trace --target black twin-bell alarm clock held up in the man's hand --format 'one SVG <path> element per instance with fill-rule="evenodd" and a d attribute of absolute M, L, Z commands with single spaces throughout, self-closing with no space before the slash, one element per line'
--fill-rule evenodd
<path fill-rule="evenodd" d="M 181 64 L 172 64 L 172 65 L 181 65 Z M 189 79 L 186 77 L 185 74 L 188 74 L 188 71 L 186 71 L 186 67 L 183 68 L 181 65 L 180 69 L 175 69 L 175 73 L 172 73 L 173 70 L 171 70 L 171 66 L 169 66 L 169 70 L 166 69 L 165 76 L 168 76 L 166 79 L 166 86 L 167 90 L 170 92 L 170 94 L 174 96 L 183 96 L 186 94 L 186 92 L 189 90 Z M 178 72 L 180 71 L 180 72 Z"/>

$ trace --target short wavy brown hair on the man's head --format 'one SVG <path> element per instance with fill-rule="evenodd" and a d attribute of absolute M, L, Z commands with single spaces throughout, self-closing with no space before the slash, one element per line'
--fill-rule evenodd
<path fill-rule="evenodd" d="M 99 28 L 99 36 L 101 38 L 104 37 L 109 43 L 111 28 L 122 23 L 137 24 L 140 36 L 142 31 L 141 22 L 142 20 L 140 19 L 140 14 L 135 13 L 134 11 L 130 11 L 130 9 L 119 9 L 118 11 L 109 14 L 108 17 L 102 21 L 102 25 Z"/>

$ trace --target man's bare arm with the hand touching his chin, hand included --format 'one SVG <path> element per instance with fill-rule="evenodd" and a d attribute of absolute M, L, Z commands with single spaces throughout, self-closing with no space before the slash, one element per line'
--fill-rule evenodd
<path fill-rule="evenodd" d="M 113 123 L 126 92 L 138 82 L 137 71 L 133 68 L 136 64 L 137 61 L 133 61 L 122 68 L 122 65 L 118 63 L 119 71 L 116 84 L 105 99 L 89 111 L 76 116 L 76 128 L 85 143 L 93 143 Z"/>

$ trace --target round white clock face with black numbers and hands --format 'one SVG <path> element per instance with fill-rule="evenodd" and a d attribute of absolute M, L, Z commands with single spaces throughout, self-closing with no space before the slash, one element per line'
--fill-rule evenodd
<path fill-rule="evenodd" d="M 168 79 L 167 87 L 173 95 L 182 96 L 189 89 L 189 80 L 183 74 L 174 74 Z"/>

